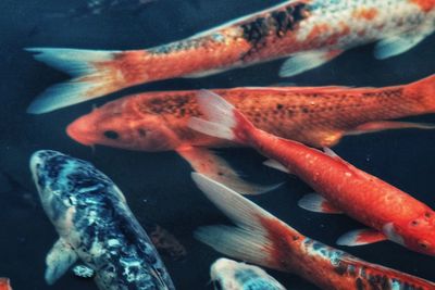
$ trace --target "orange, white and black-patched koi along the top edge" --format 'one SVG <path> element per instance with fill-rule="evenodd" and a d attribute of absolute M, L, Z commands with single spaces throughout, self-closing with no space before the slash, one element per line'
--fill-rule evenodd
<path fill-rule="evenodd" d="M 435 0 L 291 0 L 146 50 L 30 48 L 36 60 L 74 78 L 46 90 L 27 112 L 46 113 L 138 84 L 202 77 L 287 56 L 279 76 L 289 77 L 375 41 L 375 56 L 387 59 L 415 47 L 434 29 Z"/>

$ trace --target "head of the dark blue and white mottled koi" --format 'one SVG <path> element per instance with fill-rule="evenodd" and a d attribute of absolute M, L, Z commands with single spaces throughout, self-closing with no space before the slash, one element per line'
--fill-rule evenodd
<path fill-rule="evenodd" d="M 42 207 L 61 236 L 70 235 L 77 212 L 105 198 L 112 192 L 107 189 L 114 187 L 90 163 L 58 151 L 35 152 L 30 171 Z"/>

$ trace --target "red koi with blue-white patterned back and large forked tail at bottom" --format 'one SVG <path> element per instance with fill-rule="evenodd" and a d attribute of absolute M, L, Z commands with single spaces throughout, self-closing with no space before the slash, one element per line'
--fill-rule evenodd
<path fill-rule="evenodd" d="M 432 290 L 435 283 L 312 240 L 229 188 L 197 173 L 199 189 L 236 227 L 207 226 L 195 237 L 220 253 L 296 274 L 324 290 Z M 321 270 L 320 270 L 321 269 Z"/>

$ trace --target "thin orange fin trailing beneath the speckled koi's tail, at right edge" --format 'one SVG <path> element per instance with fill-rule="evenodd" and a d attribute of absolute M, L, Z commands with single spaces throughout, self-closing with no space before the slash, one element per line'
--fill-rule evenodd
<path fill-rule="evenodd" d="M 435 124 L 396 122 L 396 121 L 378 121 L 362 124 L 346 135 L 361 135 L 389 129 L 435 129 Z"/>

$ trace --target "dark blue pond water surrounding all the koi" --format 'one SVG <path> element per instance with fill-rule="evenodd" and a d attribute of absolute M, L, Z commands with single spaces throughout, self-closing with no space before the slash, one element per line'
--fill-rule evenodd
<path fill-rule="evenodd" d="M 139 220 L 160 224 L 187 248 L 185 260 L 165 259 L 177 288 L 211 289 L 209 266 L 220 255 L 194 240 L 191 232 L 201 225 L 225 223 L 225 218 L 196 189 L 188 164 L 175 153 L 151 154 L 103 147 L 91 151 L 69 139 L 64 128 L 77 116 L 88 113 L 94 103 L 102 104 L 127 92 L 276 84 L 282 81 L 277 77 L 281 61 L 203 79 L 148 84 L 50 114 L 28 115 L 25 110 L 36 94 L 67 77 L 34 61 L 23 48 L 147 48 L 185 38 L 282 1 L 158 0 L 146 5 L 140 1 L 126 2 L 102 3 L 99 12 L 94 13 L 85 0 L 0 1 L 0 276 L 10 277 L 14 289 L 96 289 L 92 281 L 77 279 L 71 273 L 52 287 L 44 281 L 45 256 L 58 238 L 40 209 L 28 171 L 28 159 L 39 149 L 59 150 L 88 160 L 108 174 L 123 190 Z M 405 84 L 434 73 L 434 46 L 435 36 L 432 36 L 410 52 L 387 61 L 374 60 L 371 46 L 359 48 L 290 81 L 346 86 Z M 435 123 L 435 116 L 409 121 Z M 434 144 L 435 131 L 397 130 L 348 137 L 335 150 L 361 169 L 435 207 Z M 262 157 L 253 151 L 222 152 L 248 178 L 268 184 L 288 180 L 281 189 L 254 200 L 302 234 L 334 244 L 341 234 L 361 227 L 345 216 L 319 215 L 298 209 L 298 199 L 310 189 L 296 178 L 264 168 Z M 435 280 L 433 257 L 391 242 L 344 250 L 366 261 Z M 296 276 L 270 273 L 288 289 L 315 289 Z"/>

